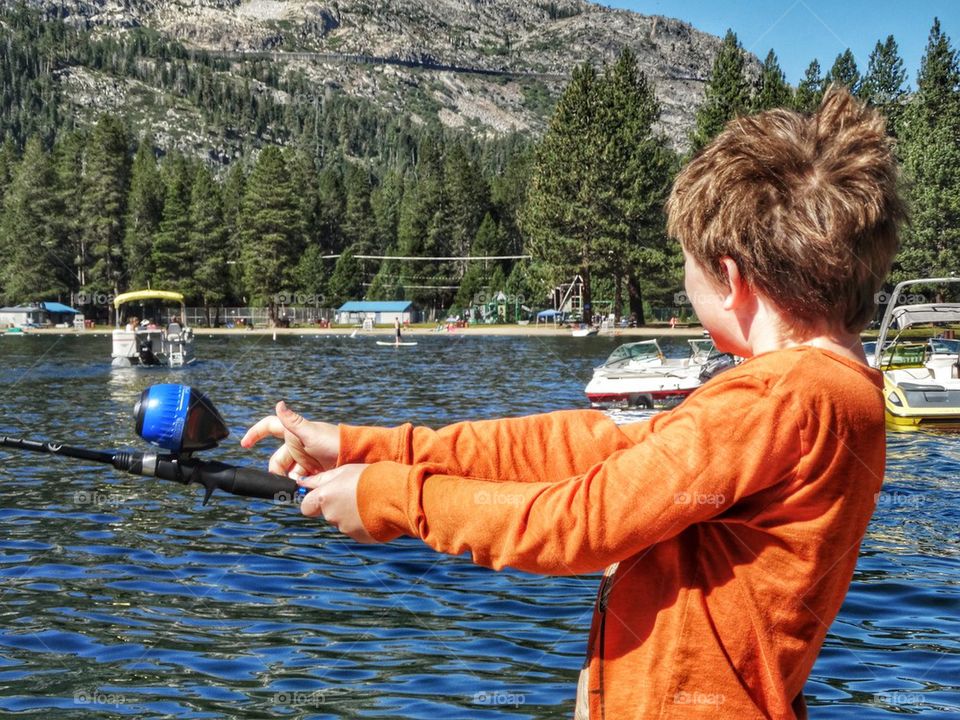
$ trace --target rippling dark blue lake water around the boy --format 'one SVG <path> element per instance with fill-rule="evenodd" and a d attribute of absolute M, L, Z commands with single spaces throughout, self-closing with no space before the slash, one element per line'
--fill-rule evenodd
<path fill-rule="evenodd" d="M 143 447 L 141 390 L 204 390 L 244 428 L 286 399 L 359 424 L 584 407 L 590 338 L 201 337 L 181 371 L 107 337 L 0 338 L 0 434 Z M 680 344 L 670 352 L 682 353 Z M 722 418 L 717 419 L 722 422 Z M 884 493 L 807 686 L 812 718 L 960 717 L 960 437 L 890 435 Z M 569 717 L 595 577 L 494 573 L 413 540 L 360 548 L 289 506 L 0 450 L 0 715 Z"/>

